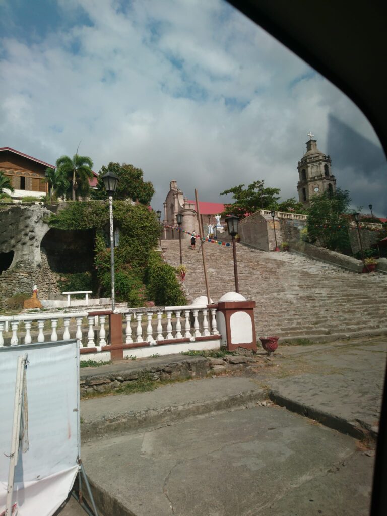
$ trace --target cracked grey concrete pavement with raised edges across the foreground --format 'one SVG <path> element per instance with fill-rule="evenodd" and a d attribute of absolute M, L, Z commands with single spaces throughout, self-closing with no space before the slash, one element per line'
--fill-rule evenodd
<path fill-rule="evenodd" d="M 102 514 L 367 514 L 383 337 L 278 351 L 247 377 L 82 401 Z"/>

